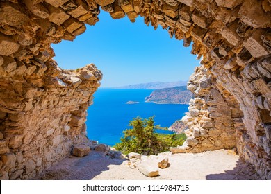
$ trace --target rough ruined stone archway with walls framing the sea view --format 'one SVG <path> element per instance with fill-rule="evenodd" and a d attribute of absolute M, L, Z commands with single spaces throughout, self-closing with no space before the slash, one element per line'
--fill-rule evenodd
<path fill-rule="evenodd" d="M 0 3 L 0 176 L 31 179 L 85 141 L 101 72 L 59 69 L 50 44 L 138 15 L 203 56 L 188 87 L 186 152 L 236 147 L 271 179 L 271 3 L 268 0 L 10 0 Z M 255 14 L 256 13 L 256 14 Z M 200 116 L 200 117 L 199 117 Z M 192 122 L 192 123 L 191 123 Z M 185 147 L 185 146 L 183 146 Z"/>

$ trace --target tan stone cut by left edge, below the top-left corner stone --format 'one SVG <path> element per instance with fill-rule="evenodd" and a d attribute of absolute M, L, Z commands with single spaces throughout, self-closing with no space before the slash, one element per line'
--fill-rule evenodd
<path fill-rule="evenodd" d="M 19 44 L 0 34 L 0 55 L 8 56 L 19 50 Z"/>

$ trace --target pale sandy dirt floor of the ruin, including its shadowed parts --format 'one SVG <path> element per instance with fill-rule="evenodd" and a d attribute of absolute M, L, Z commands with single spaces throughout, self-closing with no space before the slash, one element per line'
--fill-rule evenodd
<path fill-rule="evenodd" d="M 169 167 L 159 169 L 158 177 L 146 177 L 138 168 L 131 168 L 128 159 L 112 159 L 103 152 L 92 151 L 85 157 L 69 157 L 45 170 L 35 179 L 72 180 L 234 180 L 260 179 L 254 168 L 232 150 L 216 150 L 197 154 L 161 153 L 147 157 L 148 164 L 169 159 Z"/>

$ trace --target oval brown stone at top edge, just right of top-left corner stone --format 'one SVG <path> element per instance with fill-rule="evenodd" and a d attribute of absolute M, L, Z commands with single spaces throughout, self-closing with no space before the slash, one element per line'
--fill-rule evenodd
<path fill-rule="evenodd" d="M 24 0 L 24 3 L 26 4 L 28 10 L 33 12 L 34 15 L 43 19 L 49 17 L 49 11 L 42 5 L 42 3 L 34 4 L 32 0 Z"/>

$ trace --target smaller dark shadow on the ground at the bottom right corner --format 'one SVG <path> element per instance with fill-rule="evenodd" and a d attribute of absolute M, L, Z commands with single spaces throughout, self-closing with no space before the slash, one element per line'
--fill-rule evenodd
<path fill-rule="evenodd" d="M 225 173 L 206 175 L 206 180 L 258 180 L 261 179 L 248 161 L 239 159 L 233 170 L 226 170 Z"/>

